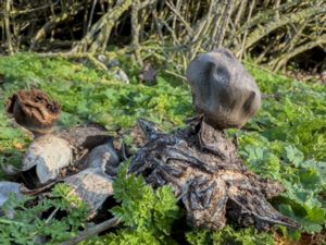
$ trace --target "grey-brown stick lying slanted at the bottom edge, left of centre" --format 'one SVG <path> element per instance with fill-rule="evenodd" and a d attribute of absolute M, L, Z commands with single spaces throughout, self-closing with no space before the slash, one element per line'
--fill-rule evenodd
<path fill-rule="evenodd" d="M 121 223 L 121 220 L 118 218 L 112 218 L 110 220 L 106 220 L 102 223 L 97 224 L 93 228 L 89 228 L 89 229 L 85 230 L 84 232 L 79 233 L 79 235 L 77 237 L 66 241 L 66 242 L 62 243 L 61 245 L 78 244 L 82 241 L 87 240 L 93 235 L 97 235 L 110 228 L 114 228 L 114 226 L 118 225 L 120 223 Z"/>

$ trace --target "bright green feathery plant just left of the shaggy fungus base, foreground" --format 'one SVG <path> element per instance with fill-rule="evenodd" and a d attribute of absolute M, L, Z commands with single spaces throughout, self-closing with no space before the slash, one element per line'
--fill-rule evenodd
<path fill-rule="evenodd" d="M 123 228 L 85 244 L 177 244 L 170 236 L 180 215 L 173 188 L 166 185 L 154 191 L 141 175 L 128 174 L 128 166 L 120 168 L 114 181 L 114 199 L 120 205 L 110 210 Z"/>

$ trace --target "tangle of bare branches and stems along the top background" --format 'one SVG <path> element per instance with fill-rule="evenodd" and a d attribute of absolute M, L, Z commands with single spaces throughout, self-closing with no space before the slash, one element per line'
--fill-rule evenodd
<path fill-rule="evenodd" d="M 1 0 L 0 47 L 104 53 L 125 48 L 142 64 L 179 61 L 217 47 L 273 71 L 326 70 L 325 0 Z"/>

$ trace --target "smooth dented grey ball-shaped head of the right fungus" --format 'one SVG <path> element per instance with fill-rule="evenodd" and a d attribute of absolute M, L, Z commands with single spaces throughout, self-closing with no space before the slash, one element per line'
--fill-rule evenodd
<path fill-rule="evenodd" d="M 227 49 L 195 58 L 187 79 L 196 109 L 215 128 L 242 127 L 261 107 L 261 91 L 253 77 Z"/>

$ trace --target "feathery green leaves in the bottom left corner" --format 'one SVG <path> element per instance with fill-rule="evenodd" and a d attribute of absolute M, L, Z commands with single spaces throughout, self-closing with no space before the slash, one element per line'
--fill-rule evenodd
<path fill-rule="evenodd" d="M 40 200 L 11 195 L 2 210 L 9 213 L 0 218 L 2 245 L 61 244 L 78 234 L 89 215 L 87 206 L 64 184 L 58 184 L 50 197 Z"/>

